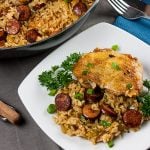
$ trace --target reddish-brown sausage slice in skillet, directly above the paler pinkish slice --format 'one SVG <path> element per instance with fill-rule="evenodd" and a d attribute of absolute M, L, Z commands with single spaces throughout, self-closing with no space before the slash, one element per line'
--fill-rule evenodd
<path fill-rule="evenodd" d="M 26 5 L 20 5 L 17 7 L 19 13 L 19 21 L 27 21 L 31 16 L 31 10 Z"/>

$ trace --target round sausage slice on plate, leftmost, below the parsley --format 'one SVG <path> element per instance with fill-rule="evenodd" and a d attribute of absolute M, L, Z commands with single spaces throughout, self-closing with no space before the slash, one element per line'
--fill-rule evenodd
<path fill-rule="evenodd" d="M 58 111 L 67 111 L 71 107 L 71 98 L 68 94 L 60 93 L 55 98 L 55 104 Z"/>

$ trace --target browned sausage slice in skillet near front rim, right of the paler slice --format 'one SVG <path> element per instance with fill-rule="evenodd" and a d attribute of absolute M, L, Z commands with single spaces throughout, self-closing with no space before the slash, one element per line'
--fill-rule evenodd
<path fill-rule="evenodd" d="M 30 43 L 36 42 L 37 37 L 40 36 L 36 29 L 31 29 L 26 33 L 26 40 Z"/>

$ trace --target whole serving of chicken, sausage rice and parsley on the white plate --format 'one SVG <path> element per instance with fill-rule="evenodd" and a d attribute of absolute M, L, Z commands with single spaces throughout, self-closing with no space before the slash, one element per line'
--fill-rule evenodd
<path fill-rule="evenodd" d="M 143 82 L 140 61 L 119 53 L 117 45 L 73 53 L 39 75 L 39 81 L 56 95 L 52 112 L 62 132 L 93 144 L 112 147 L 116 137 L 139 130 L 150 119 L 150 80 Z"/>

